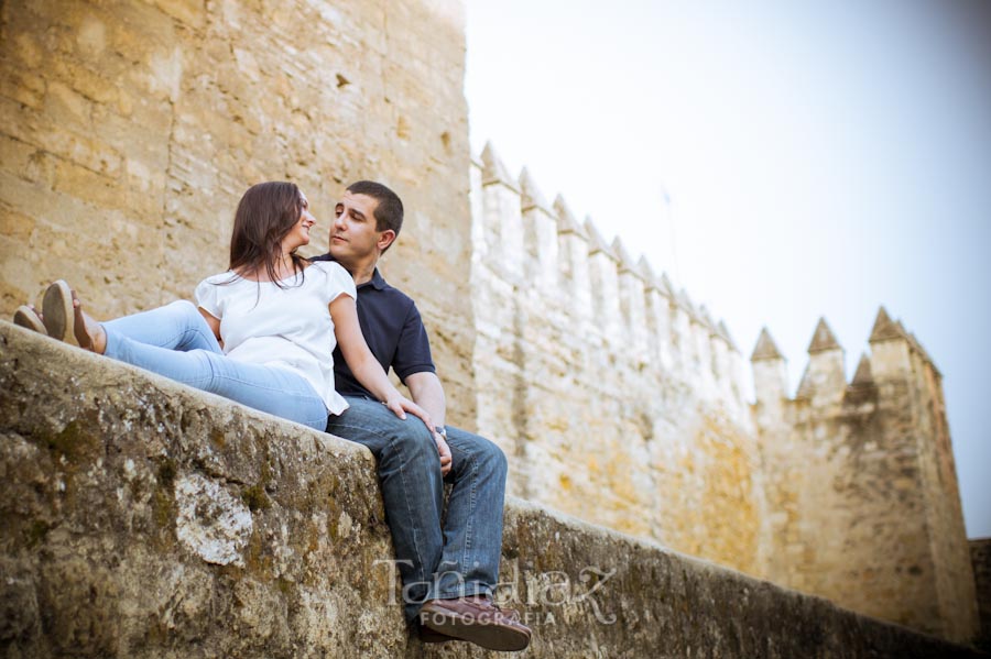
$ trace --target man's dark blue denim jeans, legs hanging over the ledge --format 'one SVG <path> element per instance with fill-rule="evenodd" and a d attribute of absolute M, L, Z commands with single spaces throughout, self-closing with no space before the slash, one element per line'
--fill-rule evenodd
<path fill-rule="evenodd" d="M 385 520 L 403 580 L 404 613 L 413 620 L 427 600 L 491 595 L 499 582 L 505 455 L 494 443 L 447 427 L 453 484 L 443 518 L 440 459 L 417 417 L 346 396 L 348 409 L 327 432 L 368 447 L 378 462 Z"/>

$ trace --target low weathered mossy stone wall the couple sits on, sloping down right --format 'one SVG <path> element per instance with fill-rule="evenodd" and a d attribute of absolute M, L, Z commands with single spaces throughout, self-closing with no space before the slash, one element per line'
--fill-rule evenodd
<path fill-rule="evenodd" d="M 363 448 L 0 322 L 0 653 L 479 657 L 410 635 Z M 381 562 L 386 561 L 386 562 Z M 977 657 L 513 501 L 521 657 Z"/>

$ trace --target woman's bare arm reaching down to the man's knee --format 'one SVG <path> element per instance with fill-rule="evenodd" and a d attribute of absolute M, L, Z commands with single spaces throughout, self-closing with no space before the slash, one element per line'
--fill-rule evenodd
<path fill-rule="evenodd" d="M 348 295 L 338 295 L 330 303 L 330 318 L 334 319 L 334 333 L 337 336 L 340 352 L 358 382 L 374 394 L 379 400 L 383 400 L 395 416 L 405 419 L 406 411 L 414 414 L 423 419 L 423 422 L 433 432 L 434 425 L 431 422 L 431 416 L 392 386 L 385 371 L 382 370 L 382 364 L 368 349 L 368 343 L 364 342 L 364 336 L 361 333 L 361 326 L 358 323 L 358 306 L 355 304 L 355 298 Z"/>

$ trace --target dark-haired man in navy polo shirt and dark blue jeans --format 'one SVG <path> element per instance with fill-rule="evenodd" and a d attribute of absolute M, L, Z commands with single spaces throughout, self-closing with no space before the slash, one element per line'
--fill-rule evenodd
<path fill-rule="evenodd" d="M 372 353 L 410 389 L 436 424 L 398 418 L 364 389 L 339 351 L 335 385 L 349 408 L 327 432 L 371 449 L 385 517 L 403 581 L 404 613 L 418 618 L 425 641 L 469 640 L 493 650 L 522 650 L 531 631 L 516 612 L 492 602 L 502 549 L 507 464 L 491 441 L 444 425 L 445 398 L 426 330 L 413 300 L 377 268 L 399 235 L 403 205 L 388 187 L 351 184 L 335 209 L 329 253 L 358 287 L 358 318 Z M 453 484 L 442 527 L 443 481 Z"/>

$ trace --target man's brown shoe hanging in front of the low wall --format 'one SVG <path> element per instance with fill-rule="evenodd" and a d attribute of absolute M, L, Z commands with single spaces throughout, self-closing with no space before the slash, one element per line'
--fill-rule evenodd
<path fill-rule="evenodd" d="M 489 650 L 510 652 L 530 645 L 531 631 L 520 614 L 499 608 L 486 597 L 431 600 L 420 609 L 420 624 Z"/>

